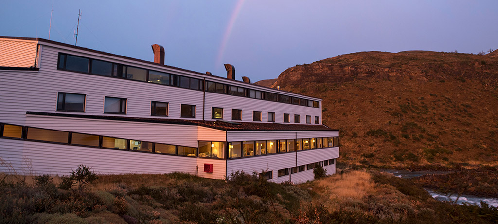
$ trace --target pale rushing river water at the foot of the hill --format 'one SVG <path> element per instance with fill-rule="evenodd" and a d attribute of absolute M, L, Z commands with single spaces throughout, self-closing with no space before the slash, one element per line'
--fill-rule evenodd
<path fill-rule="evenodd" d="M 403 179 L 410 179 L 410 178 L 415 178 L 415 177 L 420 177 L 426 174 L 448 174 L 450 172 L 448 171 L 404 171 L 404 170 L 383 170 L 383 172 L 392 174 L 396 177 L 403 178 Z M 447 196 L 445 194 L 441 194 L 435 191 L 431 191 L 429 189 L 424 189 L 426 190 L 432 198 L 439 200 L 439 201 L 451 201 L 451 202 L 456 202 L 458 205 L 464 205 L 464 203 L 471 204 L 471 205 L 478 205 L 481 207 L 481 201 L 488 203 L 490 206 L 493 207 L 498 207 L 498 199 L 495 198 L 484 198 L 484 197 L 477 197 L 477 196 L 472 196 L 472 195 L 462 195 L 458 198 L 457 196 Z"/>

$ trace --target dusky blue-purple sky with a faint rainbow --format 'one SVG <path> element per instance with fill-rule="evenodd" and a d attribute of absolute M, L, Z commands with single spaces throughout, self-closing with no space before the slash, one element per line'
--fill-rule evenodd
<path fill-rule="evenodd" d="M 498 0 L 1 0 L 0 35 L 75 44 L 79 9 L 78 46 L 153 61 L 159 44 L 167 65 L 253 82 L 359 51 L 498 48 Z"/>

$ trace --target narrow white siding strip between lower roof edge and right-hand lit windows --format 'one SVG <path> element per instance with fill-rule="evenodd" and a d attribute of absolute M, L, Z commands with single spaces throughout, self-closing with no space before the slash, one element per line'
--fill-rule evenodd
<path fill-rule="evenodd" d="M 339 136 L 339 131 L 228 131 L 227 141 L 257 141 Z"/>

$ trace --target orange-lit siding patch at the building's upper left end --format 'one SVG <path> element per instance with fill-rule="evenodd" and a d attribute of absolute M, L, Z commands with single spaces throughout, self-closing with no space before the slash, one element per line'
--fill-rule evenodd
<path fill-rule="evenodd" d="M 0 66 L 31 67 L 36 57 L 36 41 L 0 38 Z"/>

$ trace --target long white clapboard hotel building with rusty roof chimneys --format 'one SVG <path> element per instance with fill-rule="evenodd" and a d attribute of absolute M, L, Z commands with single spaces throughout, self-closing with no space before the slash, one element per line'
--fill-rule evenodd
<path fill-rule="evenodd" d="M 0 157 L 17 172 L 262 173 L 305 182 L 336 171 L 339 130 L 322 100 L 40 38 L 0 36 Z M 8 165 L 7 165 L 8 164 Z"/>

